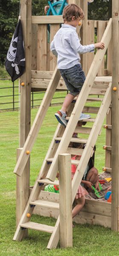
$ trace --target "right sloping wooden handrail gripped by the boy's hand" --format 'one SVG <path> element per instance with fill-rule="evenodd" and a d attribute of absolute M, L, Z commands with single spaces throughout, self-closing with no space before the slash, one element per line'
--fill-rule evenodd
<path fill-rule="evenodd" d="M 87 97 L 90 93 L 90 90 L 93 86 L 93 82 L 96 78 L 96 74 L 98 73 L 99 67 L 104 58 L 104 54 L 107 50 L 108 44 L 110 43 L 111 36 L 112 36 L 112 19 L 109 20 L 107 28 L 105 29 L 104 35 L 101 40 L 101 42 L 104 43 L 105 47 L 104 47 L 104 49 L 98 49 L 96 52 L 96 55 L 93 59 L 90 70 L 87 74 L 86 80 L 84 82 L 84 85 L 83 85 L 81 92 L 78 96 L 78 99 L 75 103 L 73 112 L 71 113 L 70 120 L 67 124 L 65 131 L 64 131 L 60 145 L 58 146 L 58 150 L 57 150 L 55 157 L 52 161 L 52 164 L 49 168 L 49 172 L 48 172 L 46 178 L 51 181 L 54 181 L 55 177 L 57 175 L 56 166 L 58 165 L 58 155 L 65 153 L 67 151 L 67 147 L 70 143 L 70 139 L 75 130 L 76 124 L 78 122 L 78 118 L 84 108 L 84 104 L 85 104 Z"/>

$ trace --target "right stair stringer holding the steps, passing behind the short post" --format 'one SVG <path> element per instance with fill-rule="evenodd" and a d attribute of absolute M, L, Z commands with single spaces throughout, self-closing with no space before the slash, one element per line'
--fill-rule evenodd
<path fill-rule="evenodd" d="M 109 108 L 110 103 L 111 103 L 111 90 L 112 90 L 111 85 L 112 85 L 112 83 L 110 83 L 109 87 L 107 88 L 104 99 L 102 101 L 102 105 L 101 105 L 101 107 L 99 109 L 99 112 L 96 116 L 96 120 L 93 124 L 93 128 L 92 128 L 92 130 L 90 132 L 90 135 L 88 137 L 87 144 L 84 148 L 84 151 L 82 153 L 80 162 L 77 166 L 75 175 L 73 177 L 73 181 L 72 181 L 72 203 L 75 199 L 75 195 L 76 195 L 78 187 L 81 183 L 81 180 L 82 180 L 82 177 L 84 175 L 87 163 L 90 159 L 90 156 L 92 154 L 94 145 L 96 144 L 96 140 L 98 138 L 99 132 L 102 128 L 104 117 L 106 116 L 106 113 L 107 113 L 108 108 Z M 59 238 L 60 238 L 59 237 L 59 223 L 60 223 L 60 219 L 59 219 L 59 216 L 58 216 L 57 226 L 55 227 L 55 230 L 52 232 L 52 235 L 49 239 L 49 243 L 47 245 L 48 249 L 52 249 L 52 248 L 57 247 L 57 244 L 58 244 L 58 241 L 59 241 Z M 56 237 L 56 240 L 55 240 L 55 237 Z"/>

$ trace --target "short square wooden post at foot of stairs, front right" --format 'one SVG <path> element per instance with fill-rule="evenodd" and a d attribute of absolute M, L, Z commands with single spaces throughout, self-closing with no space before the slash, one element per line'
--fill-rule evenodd
<path fill-rule="evenodd" d="M 60 245 L 73 246 L 71 155 L 59 157 Z"/>

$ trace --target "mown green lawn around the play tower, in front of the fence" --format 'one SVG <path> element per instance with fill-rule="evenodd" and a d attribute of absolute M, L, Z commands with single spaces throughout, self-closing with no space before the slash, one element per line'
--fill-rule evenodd
<path fill-rule="evenodd" d="M 89 103 L 87 103 L 89 105 Z M 99 103 L 93 103 L 98 106 Z M 31 181 L 33 185 L 43 163 L 52 135 L 57 126 L 54 117 L 60 106 L 51 107 L 44 119 L 41 131 L 31 153 Z M 32 109 L 32 122 L 38 109 Z M 22 242 L 13 241 L 15 233 L 15 183 L 13 170 L 16 163 L 16 148 L 18 139 L 18 112 L 0 113 L 0 256 L 119 256 L 119 235 L 109 228 L 92 225 L 75 224 L 73 228 L 73 248 L 47 250 L 50 235 L 35 230 L 29 230 L 29 237 Z M 83 136 L 84 137 L 84 136 Z M 102 172 L 104 166 L 105 129 L 96 143 L 95 166 Z M 103 216 L 102 216 L 103 218 Z M 54 218 L 33 215 L 33 221 L 55 225 Z"/>

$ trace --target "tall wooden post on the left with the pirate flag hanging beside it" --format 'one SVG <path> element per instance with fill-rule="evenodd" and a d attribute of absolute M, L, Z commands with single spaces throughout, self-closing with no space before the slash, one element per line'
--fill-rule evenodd
<path fill-rule="evenodd" d="M 23 41 L 26 58 L 26 72 L 21 76 L 20 82 L 20 148 L 23 147 L 30 130 L 31 120 L 31 45 L 32 45 L 32 3 L 31 0 L 21 0 L 21 23 L 23 29 Z M 29 160 L 26 163 L 24 174 L 17 179 L 17 224 L 29 198 Z M 24 195 L 24 197 L 23 197 Z M 26 235 L 25 235 L 26 236 Z"/>

